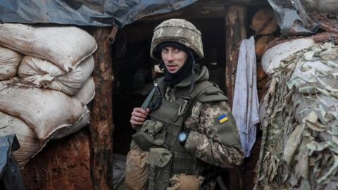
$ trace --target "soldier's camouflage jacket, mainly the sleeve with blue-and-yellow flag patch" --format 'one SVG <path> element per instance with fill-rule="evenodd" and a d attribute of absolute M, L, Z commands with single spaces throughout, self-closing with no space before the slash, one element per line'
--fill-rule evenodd
<path fill-rule="evenodd" d="M 208 80 L 208 70 L 204 67 L 198 80 Z M 175 101 L 172 89 L 165 91 L 167 101 Z M 225 121 L 218 118 L 226 115 Z M 184 148 L 196 158 L 218 167 L 241 165 L 244 153 L 230 106 L 225 101 L 202 103 L 197 101 L 192 113 L 184 121 L 189 135 Z"/>

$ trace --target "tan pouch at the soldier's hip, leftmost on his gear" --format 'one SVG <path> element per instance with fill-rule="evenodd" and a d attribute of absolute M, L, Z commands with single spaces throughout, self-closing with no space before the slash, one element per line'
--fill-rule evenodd
<path fill-rule="evenodd" d="M 130 190 L 145 190 L 148 180 L 148 165 L 146 160 L 148 152 L 134 146 L 127 153 L 125 162 L 125 186 Z"/>

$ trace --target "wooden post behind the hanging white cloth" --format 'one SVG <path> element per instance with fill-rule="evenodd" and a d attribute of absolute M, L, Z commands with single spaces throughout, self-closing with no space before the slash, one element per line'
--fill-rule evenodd
<path fill-rule="evenodd" d="M 246 38 L 246 6 L 225 8 L 225 86 L 229 104 L 234 99 L 239 46 Z"/>

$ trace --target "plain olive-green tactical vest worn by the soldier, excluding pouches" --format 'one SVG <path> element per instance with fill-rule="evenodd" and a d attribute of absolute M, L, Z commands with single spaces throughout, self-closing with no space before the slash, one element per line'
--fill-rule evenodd
<path fill-rule="evenodd" d="M 157 80 L 158 87 L 163 94 L 161 106 L 153 110 L 150 114 L 151 120 L 163 123 L 165 127 L 165 147 L 172 153 L 170 162 L 170 177 L 173 175 L 201 175 L 205 168 L 205 164 L 198 160 L 185 148 L 180 145 L 178 135 L 184 127 L 184 120 L 191 113 L 191 109 L 196 101 L 213 102 L 226 101 L 227 98 L 223 92 L 218 89 L 215 84 L 208 81 L 196 82 L 194 90 L 189 93 L 189 87 L 175 88 L 173 94 L 174 102 L 165 100 L 165 85 L 163 78 Z M 154 168 L 149 167 L 149 184 L 148 189 L 161 189 L 156 187 L 156 172 Z M 168 182 L 169 183 L 169 182 Z M 154 187 L 155 186 L 155 187 Z"/>

